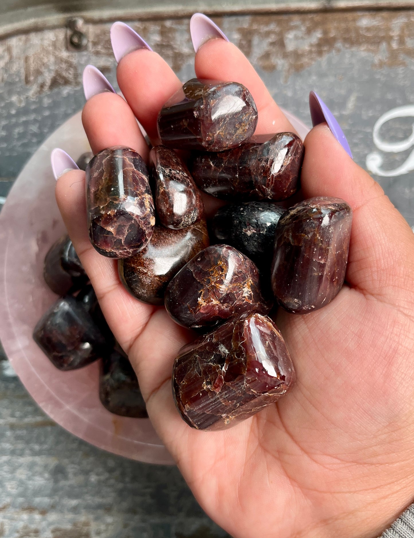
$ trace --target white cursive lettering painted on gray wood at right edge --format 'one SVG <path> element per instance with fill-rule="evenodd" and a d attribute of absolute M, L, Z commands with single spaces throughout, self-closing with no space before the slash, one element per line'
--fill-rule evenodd
<path fill-rule="evenodd" d="M 380 138 L 380 129 L 384 123 L 394 118 L 409 117 L 414 117 L 414 105 L 412 104 L 404 105 L 404 107 L 393 108 L 392 110 L 385 112 L 385 114 L 383 114 L 381 118 L 377 120 L 374 125 L 373 139 L 378 150 L 385 153 L 400 153 L 401 151 L 408 150 L 411 146 L 414 146 L 414 124 L 412 125 L 412 132 L 406 140 L 401 140 L 399 142 L 386 142 Z M 376 151 L 368 153 L 366 166 L 370 172 L 381 175 L 384 178 L 391 178 L 392 176 L 407 174 L 408 172 L 414 170 L 414 150 L 412 150 L 405 162 L 394 170 L 383 170 L 381 168 L 382 163 L 383 158 L 381 157 L 380 153 Z"/>

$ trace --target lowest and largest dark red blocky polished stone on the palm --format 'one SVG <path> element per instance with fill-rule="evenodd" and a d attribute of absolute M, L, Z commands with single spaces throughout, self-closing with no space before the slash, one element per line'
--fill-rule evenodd
<path fill-rule="evenodd" d="M 274 404 L 293 386 L 285 342 L 270 317 L 243 314 L 181 348 L 173 395 L 192 428 L 222 430 Z"/>

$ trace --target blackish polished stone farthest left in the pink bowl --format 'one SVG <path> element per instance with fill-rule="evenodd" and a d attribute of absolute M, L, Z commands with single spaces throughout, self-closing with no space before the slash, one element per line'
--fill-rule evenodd
<path fill-rule="evenodd" d="M 82 368 L 108 352 L 100 328 L 71 295 L 47 310 L 34 328 L 33 338 L 59 370 Z"/>

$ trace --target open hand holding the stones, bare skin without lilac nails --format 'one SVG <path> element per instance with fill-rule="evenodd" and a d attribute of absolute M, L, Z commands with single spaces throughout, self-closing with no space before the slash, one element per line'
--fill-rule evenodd
<path fill-rule="evenodd" d="M 231 43 L 202 45 L 195 72 L 247 86 L 257 133 L 293 130 Z M 146 159 L 135 118 L 156 143 L 158 111 L 181 83 L 146 49 L 125 56 L 117 77 L 126 101 L 102 93 L 83 110 L 90 145 L 96 153 L 122 144 Z M 137 372 L 150 419 L 202 508 L 235 538 L 375 537 L 414 496 L 414 235 L 326 124 L 312 129 L 305 146 L 303 196 L 340 197 L 354 211 L 346 285 L 312 314 L 279 310 L 296 386 L 222 432 L 191 429 L 173 403 L 172 363 L 194 336 L 164 308 L 132 298 L 116 262 L 93 249 L 85 174 L 71 171 L 57 182 L 67 230 Z"/>

